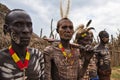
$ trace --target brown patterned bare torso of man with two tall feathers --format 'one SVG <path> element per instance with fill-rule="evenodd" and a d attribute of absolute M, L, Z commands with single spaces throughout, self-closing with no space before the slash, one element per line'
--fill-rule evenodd
<path fill-rule="evenodd" d="M 66 61 L 58 44 L 45 48 L 45 80 L 81 80 L 79 77 L 79 50 Z M 73 64 L 71 64 L 73 61 Z"/>

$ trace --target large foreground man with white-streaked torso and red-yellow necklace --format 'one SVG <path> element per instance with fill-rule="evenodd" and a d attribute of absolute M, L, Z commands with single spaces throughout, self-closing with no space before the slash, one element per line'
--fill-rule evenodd
<path fill-rule="evenodd" d="M 9 33 L 11 45 L 0 51 L 0 80 L 43 80 L 43 55 L 27 48 L 32 32 L 32 20 L 24 10 L 5 16 L 4 33 Z"/>

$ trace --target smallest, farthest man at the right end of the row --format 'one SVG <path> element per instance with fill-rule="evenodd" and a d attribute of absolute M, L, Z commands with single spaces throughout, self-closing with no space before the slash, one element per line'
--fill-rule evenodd
<path fill-rule="evenodd" d="M 98 76 L 99 80 L 110 80 L 111 75 L 111 57 L 106 44 L 109 42 L 109 34 L 104 30 L 99 32 L 100 43 L 96 46 L 98 59 Z"/>

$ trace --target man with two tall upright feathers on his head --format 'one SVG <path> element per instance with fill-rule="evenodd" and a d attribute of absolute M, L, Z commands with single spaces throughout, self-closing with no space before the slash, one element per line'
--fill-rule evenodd
<path fill-rule="evenodd" d="M 81 80 L 91 55 L 86 57 L 84 68 L 80 68 L 79 49 L 70 44 L 74 29 L 68 18 L 62 18 L 57 23 L 60 42 L 48 46 L 45 54 L 45 80 Z"/>

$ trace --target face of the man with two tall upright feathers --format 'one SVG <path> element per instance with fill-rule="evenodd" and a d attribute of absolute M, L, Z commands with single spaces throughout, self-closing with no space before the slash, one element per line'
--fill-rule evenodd
<path fill-rule="evenodd" d="M 71 40 L 74 33 L 73 24 L 69 20 L 62 20 L 60 22 L 58 33 L 61 39 Z"/>

